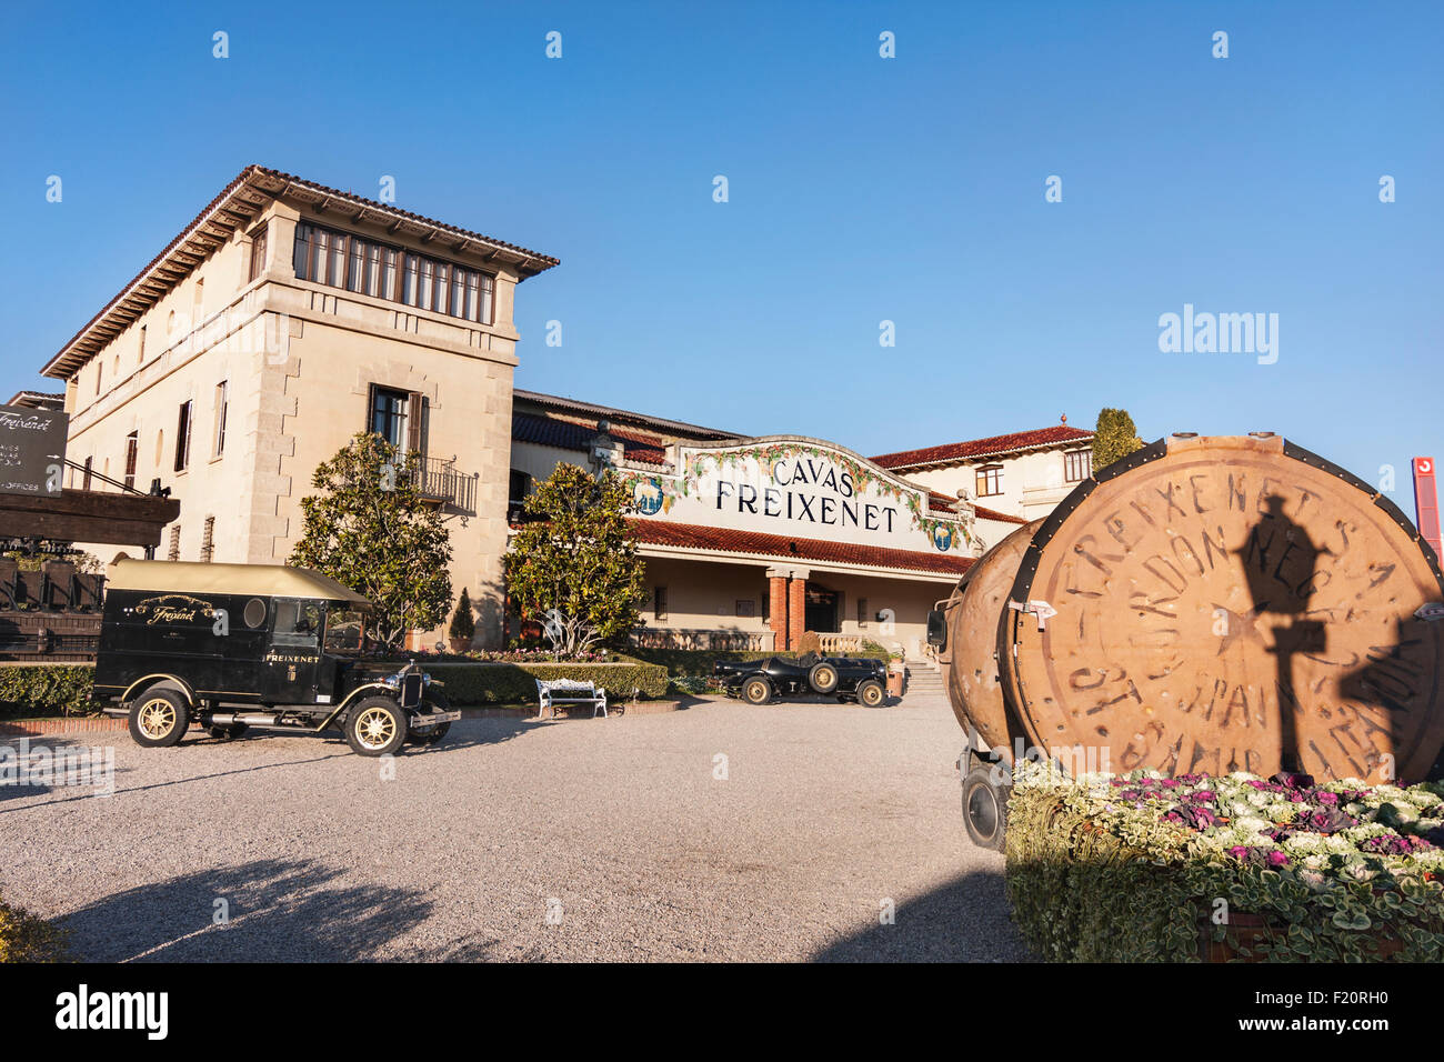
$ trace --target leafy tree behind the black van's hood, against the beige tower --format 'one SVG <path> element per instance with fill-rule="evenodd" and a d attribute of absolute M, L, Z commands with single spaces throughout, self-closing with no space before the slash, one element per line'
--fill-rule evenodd
<path fill-rule="evenodd" d="M 360 432 L 310 477 L 302 535 L 289 564 L 315 568 L 375 605 L 371 634 L 394 646 L 407 630 L 439 626 L 451 604 L 451 540 L 422 501 L 414 454 Z"/>

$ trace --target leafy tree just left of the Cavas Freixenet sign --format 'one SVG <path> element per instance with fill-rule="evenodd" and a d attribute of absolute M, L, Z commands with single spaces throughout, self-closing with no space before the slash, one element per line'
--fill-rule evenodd
<path fill-rule="evenodd" d="M 637 624 L 645 566 L 627 526 L 630 506 L 631 491 L 611 470 L 592 478 L 569 464 L 527 497 L 529 522 L 503 558 L 507 592 L 523 617 L 549 627 L 559 655 L 615 644 Z"/>

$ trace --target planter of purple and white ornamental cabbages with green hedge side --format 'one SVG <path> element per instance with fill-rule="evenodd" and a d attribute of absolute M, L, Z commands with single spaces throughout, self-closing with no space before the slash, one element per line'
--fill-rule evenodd
<path fill-rule="evenodd" d="M 1006 852 L 1014 920 L 1050 959 L 1444 959 L 1438 785 L 1027 764 Z"/>

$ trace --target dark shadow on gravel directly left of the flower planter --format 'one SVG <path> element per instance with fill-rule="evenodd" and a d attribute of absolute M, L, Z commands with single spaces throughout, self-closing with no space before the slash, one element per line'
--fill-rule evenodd
<path fill-rule="evenodd" d="M 1008 918 L 1002 874 L 972 873 L 813 955 L 813 962 L 1027 962 Z"/>

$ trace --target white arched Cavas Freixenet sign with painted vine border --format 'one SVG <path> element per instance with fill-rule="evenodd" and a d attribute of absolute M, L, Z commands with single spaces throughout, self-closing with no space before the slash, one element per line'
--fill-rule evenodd
<path fill-rule="evenodd" d="M 911 551 L 962 551 L 970 520 L 934 513 L 927 491 L 851 451 L 797 439 L 680 446 L 676 472 L 622 470 L 640 516 L 674 523 L 856 542 Z"/>

